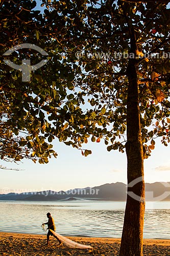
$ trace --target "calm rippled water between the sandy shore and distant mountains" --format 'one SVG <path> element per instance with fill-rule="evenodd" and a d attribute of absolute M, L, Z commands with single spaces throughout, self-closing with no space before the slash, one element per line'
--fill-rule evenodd
<path fill-rule="evenodd" d="M 0 201 L 0 231 L 44 233 L 41 224 L 51 212 L 57 232 L 64 236 L 121 238 L 125 202 Z M 147 202 L 144 238 L 170 239 L 170 202 Z"/>

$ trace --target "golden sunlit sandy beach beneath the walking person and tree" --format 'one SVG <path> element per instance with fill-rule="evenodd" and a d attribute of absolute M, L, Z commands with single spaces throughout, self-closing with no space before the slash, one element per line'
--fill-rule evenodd
<path fill-rule="evenodd" d="M 50 243 L 46 246 L 46 234 L 21 234 L 0 232 L 0 255 L 11 256 L 65 256 L 65 255 L 100 255 L 118 256 L 120 239 L 115 238 L 84 238 L 70 237 L 72 241 L 91 245 L 93 249 L 72 249 L 65 245 L 58 247 L 55 238 L 50 238 Z M 68 237 L 69 238 L 69 237 Z M 169 256 L 170 240 L 166 239 L 144 239 L 143 256 Z"/>

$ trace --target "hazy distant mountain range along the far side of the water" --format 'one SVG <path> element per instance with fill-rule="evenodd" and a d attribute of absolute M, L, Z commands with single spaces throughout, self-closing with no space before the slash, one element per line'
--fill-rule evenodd
<path fill-rule="evenodd" d="M 71 201 L 71 200 L 105 200 L 126 201 L 127 185 L 121 182 L 107 183 L 96 187 L 75 188 L 67 191 L 33 191 L 21 194 L 0 195 L 0 200 L 8 201 Z M 170 182 L 145 184 L 147 201 L 170 201 Z"/>

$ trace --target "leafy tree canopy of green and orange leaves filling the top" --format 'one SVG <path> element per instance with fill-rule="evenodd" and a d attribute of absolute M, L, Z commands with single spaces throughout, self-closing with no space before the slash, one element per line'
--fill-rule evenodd
<path fill-rule="evenodd" d="M 30 82 L 21 82 L 21 72 L 1 62 L 1 159 L 28 157 L 47 163 L 48 157 L 57 156 L 51 144 L 55 137 L 81 148 L 92 135 L 92 141 L 104 138 L 108 151 L 123 152 L 132 28 L 137 42 L 145 157 L 154 148 L 155 137 L 162 136 L 167 145 L 170 77 L 169 57 L 164 54 L 169 49 L 166 4 L 42 2 L 44 13 L 34 9 L 35 1 L 1 3 L 1 55 L 29 42 L 45 50 L 49 60 L 32 72 Z M 42 56 L 22 49 L 10 58 L 20 65 L 22 58 L 35 64 Z"/>

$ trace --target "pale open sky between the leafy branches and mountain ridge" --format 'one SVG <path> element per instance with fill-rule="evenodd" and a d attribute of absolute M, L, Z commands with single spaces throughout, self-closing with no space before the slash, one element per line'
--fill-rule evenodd
<path fill-rule="evenodd" d="M 85 145 L 92 150 L 92 155 L 88 157 L 83 157 L 81 151 L 56 141 L 58 157 L 50 159 L 48 164 L 34 164 L 31 160 L 24 160 L 16 165 L 1 161 L 8 168 L 24 170 L 1 170 L 0 193 L 7 193 L 10 189 L 21 189 L 18 192 L 48 189 L 59 191 L 117 181 L 127 183 L 126 153 L 107 152 L 104 141 Z M 165 147 L 156 140 L 152 156 L 144 160 L 144 175 L 145 182 L 170 182 L 169 145 Z"/>

